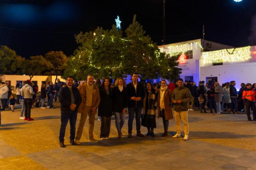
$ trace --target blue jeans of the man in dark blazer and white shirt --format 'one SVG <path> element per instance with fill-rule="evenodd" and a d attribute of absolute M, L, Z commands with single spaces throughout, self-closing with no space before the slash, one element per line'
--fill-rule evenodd
<path fill-rule="evenodd" d="M 137 134 L 141 133 L 141 110 L 138 106 L 134 108 L 128 108 L 129 119 L 128 119 L 128 133 L 132 133 L 132 122 L 134 121 L 134 114 L 136 119 L 136 130 Z"/>

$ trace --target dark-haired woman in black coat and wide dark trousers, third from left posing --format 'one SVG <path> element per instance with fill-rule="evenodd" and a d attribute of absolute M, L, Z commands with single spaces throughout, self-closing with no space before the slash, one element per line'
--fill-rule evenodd
<path fill-rule="evenodd" d="M 101 116 L 100 139 L 108 139 L 110 133 L 111 116 L 112 116 L 112 89 L 108 78 L 104 79 L 100 91 L 100 105 L 98 115 Z"/>

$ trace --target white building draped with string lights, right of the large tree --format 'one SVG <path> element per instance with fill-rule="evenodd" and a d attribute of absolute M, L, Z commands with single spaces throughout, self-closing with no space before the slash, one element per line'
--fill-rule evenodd
<path fill-rule="evenodd" d="M 179 57 L 180 78 L 198 82 L 204 80 L 213 85 L 236 81 L 236 88 L 242 82 L 254 83 L 256 77 L 256 46 L 234 48 L 208 40 L 191 40 L 159 46 L 160 51 Z"/>

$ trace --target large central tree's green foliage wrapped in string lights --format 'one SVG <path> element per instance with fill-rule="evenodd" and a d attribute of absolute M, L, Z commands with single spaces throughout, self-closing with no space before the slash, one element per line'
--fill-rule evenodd
<path fill-rule="evenodd" d="M 142 79 L 176 79 L 180 73 L 177 59 L 161 53 L 156 43 L 145 36 L 143 26 L 136 21 L 125 30 L 115 25 L 110 30 L 98 27 L 94 32 L 79 33 L 76 42 L 80 45 L 68 60 L 64 78 L 71 75 L 84 80 L 88 74 L 96 79 L 125 77 L 135 71 Z"/>

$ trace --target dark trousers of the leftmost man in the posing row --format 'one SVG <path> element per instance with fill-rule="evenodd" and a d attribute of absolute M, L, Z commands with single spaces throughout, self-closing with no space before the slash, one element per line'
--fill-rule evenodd
<path fill-rule="evenodd" d="M 75 139 L 76 135 L 76 118 L 77 118 L 77 113 L 74 111 L 70 111 L 70 113 L 61 113 L 61 125 L 60 125 L 60 130 L 59 130 L 59 142 L 64 141 L 64 136 L 65 136 L 65 130 L 66 126 L 70 124 L 70 140 Z"/>

